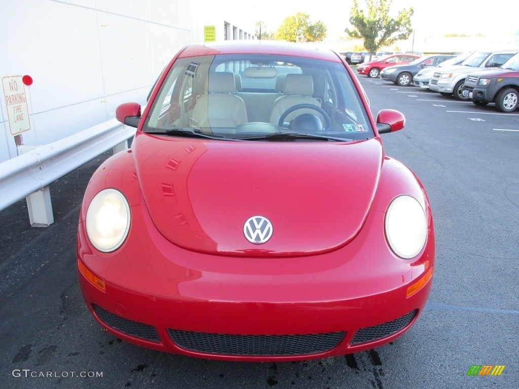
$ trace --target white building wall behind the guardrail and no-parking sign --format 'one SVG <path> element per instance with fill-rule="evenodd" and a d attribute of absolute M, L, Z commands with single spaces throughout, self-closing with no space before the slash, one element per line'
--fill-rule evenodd
<path fill-rule="evenodd" d="M 0 78 L 30 75 L 26 146 L 57 141 L 145 103 L 160 71 L 224 18 L 185 0 L 0 0 Z M 195 7 L 195 8 L 193 8 Z M 194 9 L 193 13 L 190 8 Z M 192 17 L 192 15 L 196 15 Z M 221 27 L 220 27 L 221 26 Z M 17 155 L 0 86 L 0 162 Z"/>

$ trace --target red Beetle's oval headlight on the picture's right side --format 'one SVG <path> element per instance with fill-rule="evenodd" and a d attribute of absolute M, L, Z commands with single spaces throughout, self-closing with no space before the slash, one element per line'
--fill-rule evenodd
<path fill-rule="evenodd" d="M 386 238 L 395 254 L 413 258 L 424 248 L 427 219 L 420 203 L 410 196 L 399 196 L 386 213 Z"/>

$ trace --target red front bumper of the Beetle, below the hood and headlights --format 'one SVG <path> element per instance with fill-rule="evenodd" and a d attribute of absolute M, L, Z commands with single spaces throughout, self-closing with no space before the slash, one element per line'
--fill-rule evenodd
<path fill-rule="evenodd" d="M 410 328 L 424 309 L 434 233 L 419 257 L 395 257 L 384 213 L 321 255 L 231 257 L 175 246 L 144 205 L 132 207 L 126 242 L 101 254 L 78 227 L 79 285 L 94 318 L 114 336 L 159 351 L 234 360 L 298 360 L 372 349 Z M 427 277 L 427 278 L 426 278 Z M 422 287 L 406 297 L 409 288 Z"/>

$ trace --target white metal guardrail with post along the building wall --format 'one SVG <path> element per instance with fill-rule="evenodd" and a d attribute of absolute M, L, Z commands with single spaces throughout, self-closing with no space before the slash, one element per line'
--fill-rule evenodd
<path fill-rule="evenodd" d="M 133 135 L 135 128 L 111 119 L 0 163 L 0 210 L 26 197 L 31 225 L 52 224 L 48 185 L 111 148 L 128 148 Z"/>

